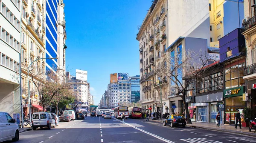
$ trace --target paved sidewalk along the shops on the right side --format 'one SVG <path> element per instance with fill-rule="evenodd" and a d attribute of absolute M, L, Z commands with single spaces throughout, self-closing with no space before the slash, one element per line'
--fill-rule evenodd
<path fill-rule="evenodd" d="M 161 119 L 150 120 L 150 121 L 163 123 Z M 202 123 L 202 122 L 192 122 L 192 125 L 187 124 L 186 126 L 189 126 L 192 128 L 208 129 L 213 131 L 229 132 L 229 133 L 243 134 L 243 135 L 256 137 L 256 132 L 254 133 L 254 130 L 252 130 L 252 132 L 249 132 L 248 127 L 247 128 L 242 127 L 242 129 L 240 130 L 239 126 L 238 126 L 238 129 L 235 129 L 235 126 L 221 124 L 221 128 L 219 128 L 219 127 L 216 127 L 215 123 Z"/>

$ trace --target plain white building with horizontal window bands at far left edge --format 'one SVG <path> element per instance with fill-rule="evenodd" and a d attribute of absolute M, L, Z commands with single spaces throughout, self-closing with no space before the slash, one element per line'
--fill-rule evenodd
<path fill-rule="evenodd" d="M 21 114 L 20 0 L 0 0 L 0 111 Z"/>

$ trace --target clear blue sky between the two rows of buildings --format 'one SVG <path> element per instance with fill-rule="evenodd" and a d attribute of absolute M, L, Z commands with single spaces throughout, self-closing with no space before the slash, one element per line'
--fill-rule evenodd
<path fill-rule="evenodd" d="M 140 74 L 137 26 L 151 0 L 64 0 L 67 71 L 88 71 L 98 105 L 111 73 Z"/>

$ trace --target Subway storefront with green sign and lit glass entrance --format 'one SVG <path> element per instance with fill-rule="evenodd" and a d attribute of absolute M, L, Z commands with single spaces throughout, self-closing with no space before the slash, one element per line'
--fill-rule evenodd
<path fill-rule="evenodd" d="M 235 124 L 236 112 L 246 107 L 246 101 L 243 101 L 244 86 L 231 89 L 224 89 L 225 98 L 225 124 Z"/>

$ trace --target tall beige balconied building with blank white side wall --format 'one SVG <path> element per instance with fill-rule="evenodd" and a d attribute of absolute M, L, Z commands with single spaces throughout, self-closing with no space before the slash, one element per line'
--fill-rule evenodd
<path fill-rule="evenodd" d="M 162 73 L 156 73 L 155 69 L 167 64 L 166 59 L 170 58 L 172 51 L 167 49 L 180 45 L 184 38 L 188 41 L 193 38 L 203 41 L 204 46 L 198 47 L 206 51 L 210 39 L 209 25 L 208 0 L 186 3 L 180 0 L 152 2 L 137 34 L 137 40 L 140 42 L 140 100 L 144 112 L 162 111 L 164 114 L 167 107 L 168 112 L 172 112 L 171 107 L 176 106 L 180 107 L 176 112 L 183 111 L 181 98 L 171 96 L 175 90 L 169 78 Z M 184 47 L 181 49 L 186 50 L 185 43 L 182 46 Z M 196 43 L 193 43 L 193 46 L 197 46 Z"/>

